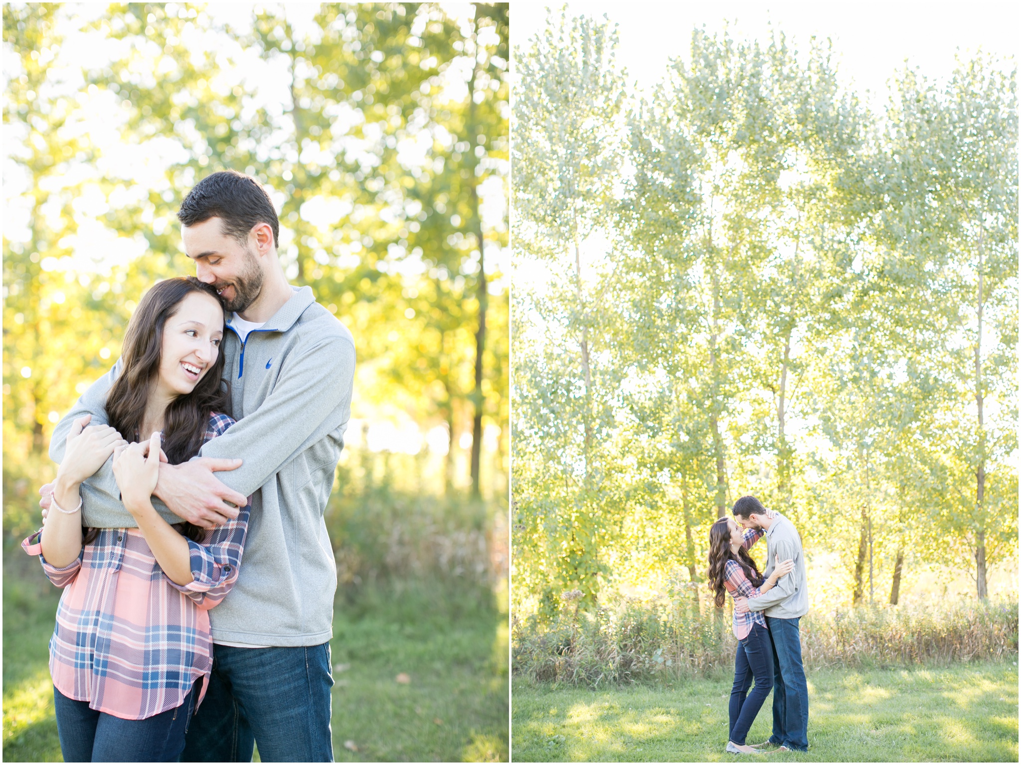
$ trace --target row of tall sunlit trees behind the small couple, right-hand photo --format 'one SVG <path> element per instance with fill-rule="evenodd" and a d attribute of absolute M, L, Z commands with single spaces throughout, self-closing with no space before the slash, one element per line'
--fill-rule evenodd
<path fill-rule="evenodd" d="M 828 603 L 959 574 L 985 598 L 1017 539 L 1013 62 L 906 68 L 873 113 L 815 41 L 695 30 L 640 98 L 615 41 L 564 12 L 515 54 L 516 614 L 697 589 L 744 494 L 794 520 Z M 558 156 L 587 187 L 533 178 Z M 584 569 L 572 528 L 598 533 Z"/>

